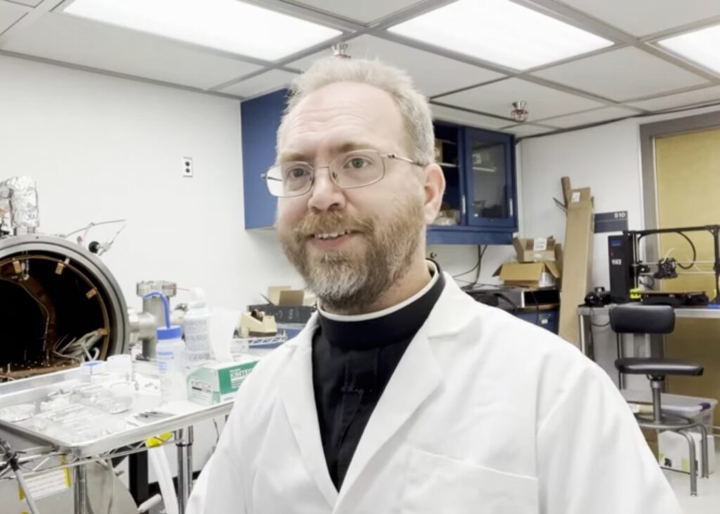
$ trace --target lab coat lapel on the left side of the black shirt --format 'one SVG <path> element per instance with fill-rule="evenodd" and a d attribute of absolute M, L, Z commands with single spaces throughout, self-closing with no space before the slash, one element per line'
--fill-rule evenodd
<path fill-rule="evenodd" d="M 310 320 L 305 329 L 297 335 L 297 348 L 290 365 L 287 366 L 280 396 L 307 471 L 328 505 L 334 508 L 338 492 L 330 479 L 328 464 L 325 462 L 315 393 L 312 390 L 312 333 L 315 331 L 315 319 Z"/>

